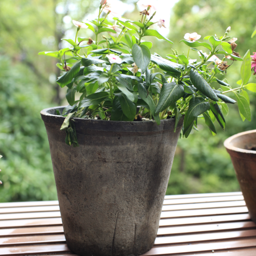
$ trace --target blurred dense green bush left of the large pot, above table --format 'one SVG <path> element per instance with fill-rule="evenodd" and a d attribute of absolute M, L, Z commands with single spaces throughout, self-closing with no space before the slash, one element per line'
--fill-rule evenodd
<path fill-rule="evenodd" d="M 0 202 L 56 200 L 49 143 L 39 113 L 47 103 L 38 96 L 35 76 L 0 56 L 0 78 Z"/>

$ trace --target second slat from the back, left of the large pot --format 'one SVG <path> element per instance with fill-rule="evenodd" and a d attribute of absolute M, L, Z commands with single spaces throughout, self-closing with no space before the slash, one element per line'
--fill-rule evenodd
<path fill-rule="evenodd" d="M 0 208 L 0 214 L 22 213 L 22 212 L 56 212 L 56 211 L 60 211 L 59 205 Z"/>

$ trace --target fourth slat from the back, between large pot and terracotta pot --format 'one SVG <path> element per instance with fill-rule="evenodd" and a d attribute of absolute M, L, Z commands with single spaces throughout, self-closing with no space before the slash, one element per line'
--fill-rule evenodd
<path fill-rule="evenodd" d="M 166 211 L 161 213 L 161 218 L 164 219 L 164 218 L 178 218 L 178 217 L 189 217 L 189 216 L 237 214 L 237 213 L 247 213 L 247 212 L 248 212 L 248 209 L 246 206 L 217 208 L 217 209 Z"/>

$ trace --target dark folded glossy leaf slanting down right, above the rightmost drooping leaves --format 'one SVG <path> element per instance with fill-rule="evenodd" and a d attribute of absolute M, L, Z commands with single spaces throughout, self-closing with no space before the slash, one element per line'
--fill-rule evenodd
<path fill-rule="evenodd" d="M 190 70 L 190 80 L 192 84 L 211 100 L 218 101 L 217 95 L 213 92 L 211 86 L 204 80 L 204 78 L 194 69 Z"/>

